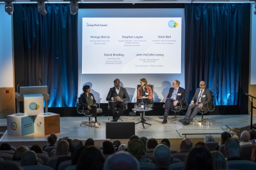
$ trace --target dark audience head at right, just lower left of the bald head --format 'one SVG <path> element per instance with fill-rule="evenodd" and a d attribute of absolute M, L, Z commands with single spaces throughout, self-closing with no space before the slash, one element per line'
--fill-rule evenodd
<path fill-rule="evenodd" d="M 225 153 L 227 160 L 242 160 L 240 158 L 239 141 L 235 138 L 229 138 L 225 142 Z"/>

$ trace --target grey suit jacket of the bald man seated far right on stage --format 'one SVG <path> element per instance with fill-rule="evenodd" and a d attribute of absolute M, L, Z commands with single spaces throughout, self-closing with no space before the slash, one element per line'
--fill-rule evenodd
<path fill-rule="evenodd" d="M 194 103 L 196 103 L 196 99 L 200 93 L 200 90 L 201 90 L 200 88 L 196 89 L 195 95 L 192 99 L 192 101 L 194 101 Z M 205 97 L 203 97 L 203 96 L 205 96 Z M 202 94 L 202 97 L 201 97 L 201 103 L 204 104 L 204 106 L 203 106 L 204 111 L 208 111 L 207 104 L 209 104 L 211 102 L 212 102 L 212 92 L 211 92 L 211 90 L 205 88 L 204 92 Z"/>

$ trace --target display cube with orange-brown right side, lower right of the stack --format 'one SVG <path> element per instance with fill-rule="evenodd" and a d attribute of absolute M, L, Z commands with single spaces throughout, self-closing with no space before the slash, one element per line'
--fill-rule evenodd
<path fill-rule="evenodd" d="M 35 133 L 48 135 L 60 133 L 60 115 L 56 113 L 44 113 L 34 117 Z"/>

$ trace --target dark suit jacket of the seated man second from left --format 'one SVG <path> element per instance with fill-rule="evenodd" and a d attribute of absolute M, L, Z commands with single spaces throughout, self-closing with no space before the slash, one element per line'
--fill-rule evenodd
<path fill-rule="evenodd" d="M 123 100 L 124 104 L 126 104 L 126 102 L 130 100 L 130 97 L 127 94 L 127 91 L 126 89 L 124 89 L 124 87 L 120 87 L 119 94 L 116 93 L 116 87 L 110 88 L 106 100 L 112 101 L 111 97 L 116 97 L 116 96 L 119 96 Z"/>

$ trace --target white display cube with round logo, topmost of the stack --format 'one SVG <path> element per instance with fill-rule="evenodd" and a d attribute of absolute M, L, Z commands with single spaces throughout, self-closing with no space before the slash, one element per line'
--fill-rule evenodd
<path fill-rule="evenodd" d="M 24 94 L 23 96 L 25 115 L 44 115 L 44 96 L 42 94 Z"/>

